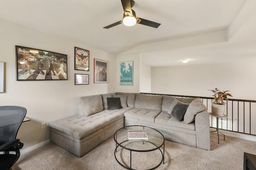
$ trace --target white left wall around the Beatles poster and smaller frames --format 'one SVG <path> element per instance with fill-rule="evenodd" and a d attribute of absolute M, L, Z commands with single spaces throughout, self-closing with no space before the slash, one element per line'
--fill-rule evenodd
<path fill-rule="evenodd" d="M 24 143 L 23 149 L 49 139 L 50 121 L 77 114 L 80 96 L 115 91 L 115 55 L 2 19 L 0 37 L 0 61 L 6 62 L 6 93 L 0 93 L 0 106 L 27 109 L 26 117 L 31 121 L 22 123 L 17 136 Z M 16 81 L 15 45 L 68 55 L 68 80 Z M 90 71 L 74 70 L 74 47 L 90 51 Z M 108 83 L 94 84 L 94 58 L 108 61 Z M 89 85 L 75 86 L 75 73 L 89 74 Z M 41 129 L 42 122 L 46 122 L 46 129 Z"/>

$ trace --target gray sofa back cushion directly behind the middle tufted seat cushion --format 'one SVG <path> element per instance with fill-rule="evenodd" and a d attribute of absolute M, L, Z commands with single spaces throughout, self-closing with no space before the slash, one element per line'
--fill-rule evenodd
<path fill-rule="evenodd" d="M 136 94 L 135 107 L 142 109 L 162 110 L 163 96 L 151 96 L 146 94 Z"/>

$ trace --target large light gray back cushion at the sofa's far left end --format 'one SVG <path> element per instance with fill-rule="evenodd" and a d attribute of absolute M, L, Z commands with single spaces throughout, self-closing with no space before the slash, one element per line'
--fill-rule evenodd
<path fill-rule="evenodd" d="M 85 116 L 103 110 L 102 98 L 99 95 L 80 97 L 80 113 Z"/>

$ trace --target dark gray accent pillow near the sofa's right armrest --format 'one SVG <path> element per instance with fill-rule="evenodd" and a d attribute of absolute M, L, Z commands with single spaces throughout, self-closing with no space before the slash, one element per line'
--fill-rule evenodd
<path fill-rule="evenodd" d="M 188 104 L 178 102 L 171 111 L 171 116 L 177 119 L 178 121 L 184 120 L 184 115 L 186 113 L 186 110 L 188 108 Z"/>

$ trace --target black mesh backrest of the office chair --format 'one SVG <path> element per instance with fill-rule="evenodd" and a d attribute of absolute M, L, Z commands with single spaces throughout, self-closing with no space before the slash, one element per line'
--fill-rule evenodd
<path fill-rule="evenodd" d="M 25 115 L 24 107 L 0 106 L 0 145 L 16 139 Z"/>

